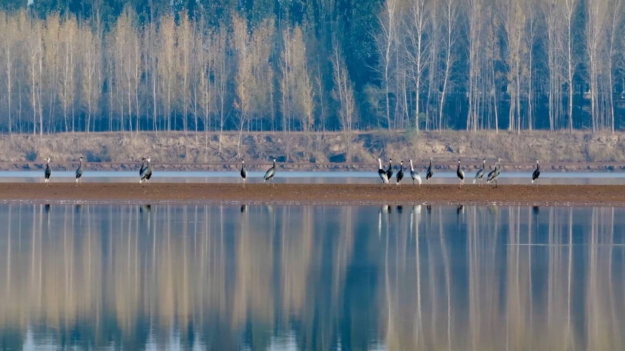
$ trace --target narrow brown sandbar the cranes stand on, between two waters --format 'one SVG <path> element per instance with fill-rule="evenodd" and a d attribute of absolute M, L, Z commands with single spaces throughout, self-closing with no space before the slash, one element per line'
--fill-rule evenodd
<path fill-rule="evenodd" d="M 233 202 L 291 204 L 526 204 L 625 206 L 625 185 L 403 185 L 374 184 L 216 184 L 0 183 L 0 201 L 34 202 Z"/>

